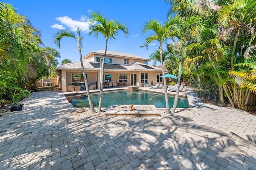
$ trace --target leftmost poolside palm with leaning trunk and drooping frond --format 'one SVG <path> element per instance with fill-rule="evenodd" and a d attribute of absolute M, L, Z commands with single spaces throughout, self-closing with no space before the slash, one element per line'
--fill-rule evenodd
<path fill-rule="evenodd" d="M 80 54 L 80 62 L 81 62 L 83 76 L 84 76 L 84 83 L 85 83 L 85 87 L 86 87 L 86 93 L 88 95 L 89 105 L 90 105 L 92 113 L 96 113 L 96 111 L 93 107 L 93 104 L 92 104 L 92 100 L 91 100 L 90 92 L 89 92 L 88 81 L 87 81 L 86 74 L 85 74 L 85 71 L 84 71 L 84 65 L 83 65 L 83 59 L 82 59 L 82 53 L 81 53 L 82 40 L 84 38 L 81 36 L 81 29 L 80 28 L 77 28 L 77 33 L 78 33 L 78 36 L 76 37 L 74 32 L 72 32 L 71 30 L 59 30 L 58 32 L 56 32 L 54 34 L 54 39 L 53 40 L 54 40 L 54 44 L 56 44 L 58 48 L 60 48 L 60 40 L 64 37 L 70 37 L 70 38 L 73 38 L 76 41 L 76 45 L 78 47 L 78 51 L 79 51 L 79 54 Z"/>

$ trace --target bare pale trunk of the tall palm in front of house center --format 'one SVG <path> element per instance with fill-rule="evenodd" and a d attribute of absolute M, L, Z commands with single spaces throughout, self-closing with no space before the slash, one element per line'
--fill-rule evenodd
<path fill-rule="evenodd" d="M 105 53 L 103 55 L 103 58 L 100 60 L 100 99 L 99 99 L 98 113 L 102 112 L 101 107 L 102 107 L 103 83 L 104 83 L 103 75 L 104 75 L 104 63 L 105 63 L 105 58 L 106 58 L 106 53 L 107 53 L 107 46 L 108 46 L 108 40 L 106 40 Z"/>

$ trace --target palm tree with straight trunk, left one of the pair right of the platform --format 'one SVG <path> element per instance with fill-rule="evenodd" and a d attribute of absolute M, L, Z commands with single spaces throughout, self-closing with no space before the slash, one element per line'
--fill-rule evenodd
<path fill-rule="evenodd" d="M 176 18 L 175 18 L 176 19 Z M 154 34 L 149 35 L 146 37 L 145 44 L 141 47 L 146 47 L 148 49 L 148 45 L 156 40 L 160 43 L 159 45 L 159 51 L 160 51 L 160 63 L 162 67 L 162 74 L 164 79 L 164 97 L 165 97 L 165 104 L 166 104 L 166 113 L 170 114 L 170 107 L 169 107 L 169 101 L 168 101 L 168 93 L 166 89 L 166 79 L 164 74 L 164 63 L 163 63 L 163 50 L 162 50 L 162 44 L 166 43 L 167 40 L 170 40 L 172 38 L 172 30 L 171 27 L 175 24 L 181 24 L 180 20 L 169 20 L 168 22 L 161 24 L 157 20 L 150 20 L 147 21 L 144 26 L 142 27 L 142 33 L 145 34 L 149 30 L 152 30 Z M 166 43 L 167 44 L 167 43 Z"/>

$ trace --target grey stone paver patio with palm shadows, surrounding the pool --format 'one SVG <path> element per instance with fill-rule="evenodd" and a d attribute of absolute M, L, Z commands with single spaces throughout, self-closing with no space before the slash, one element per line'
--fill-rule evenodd
<path fill-rule="evenodd" d="M 0 118 L 0 170 L 256 169 L 256 117 L 244 111 L 196 102 L 196 118 L 72 117 L 58 91 L 24 103 Z"/>

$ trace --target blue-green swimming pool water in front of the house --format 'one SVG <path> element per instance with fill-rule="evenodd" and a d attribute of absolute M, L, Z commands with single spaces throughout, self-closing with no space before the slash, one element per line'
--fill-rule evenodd
<path fill-rule="evenodd" d="M 90 107 L 87 95 L 66 96 L 74 107 Z M 99 93 L 91 94 L 94 107 L 99 105 Z M 169 107 L 173 106 L 174 96 L 169 96 Z M 111 91 L 103 93 L 102 107 L 110 105 L 155 105 L 157 108 L 166 107 L 164 95 L 145 91 Z M 188 100 L 179 97 L 178 108 L 188 108 Z"/>

